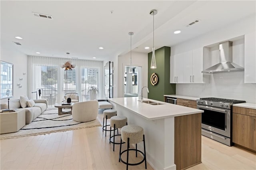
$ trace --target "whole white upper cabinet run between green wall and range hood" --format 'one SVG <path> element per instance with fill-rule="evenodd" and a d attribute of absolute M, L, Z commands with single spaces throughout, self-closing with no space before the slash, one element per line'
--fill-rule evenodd
<path fill-rule="evenodd" d="M 170 58 L 170 83 L 203 83 L 203 48 Z"/>

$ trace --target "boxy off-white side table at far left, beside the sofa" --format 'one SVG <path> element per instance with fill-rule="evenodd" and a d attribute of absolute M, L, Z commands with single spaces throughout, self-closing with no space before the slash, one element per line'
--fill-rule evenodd
<path fill-rule="evenodd" d="M 0 134 L 18 132 L 18 130 L 26 125 L 25 109 L 0 113 L 0 123 Z"/>

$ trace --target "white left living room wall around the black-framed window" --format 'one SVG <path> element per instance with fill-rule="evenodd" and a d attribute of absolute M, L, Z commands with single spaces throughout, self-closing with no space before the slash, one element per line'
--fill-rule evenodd
<path fill-rule="evenodd" d="M 12 42 L 11 42 L 12 43 Z M 13 44 L 15 45 L 15 44 Z M 27 68 L 28 68 L 28 57 L 26 54 L 18 51 L 15 47 L 10 48 L 4 45 L 1 42 L 1 61 L 6 61 L 14 65 L 14 76 L 13 76 L 13 85 L 14 98 L 20 98 L 21 95 L 28 95 L 28 80 L 27 80 Z M 26 73 L 26 75 L 23 75 Z M 23 80 L 20 81 L 20 78 Z M 20 83 L 22 88 L 19 88 L 17 84 Z M 7 99 L 1 99 L 1 103 L 6 103 Z"/>

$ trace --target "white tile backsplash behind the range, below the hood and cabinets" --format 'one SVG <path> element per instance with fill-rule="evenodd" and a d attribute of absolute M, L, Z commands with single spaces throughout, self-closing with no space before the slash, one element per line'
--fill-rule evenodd
<path fill-rule="evenodd" d="M 256 103 L 256 84 L 244 83 L 244 71 L 204 74 L 205 84 L 176 84 L 176 95 L 218 97 Z"/>

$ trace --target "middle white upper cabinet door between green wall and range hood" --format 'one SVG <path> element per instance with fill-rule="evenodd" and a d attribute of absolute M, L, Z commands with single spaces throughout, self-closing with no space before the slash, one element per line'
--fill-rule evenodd
<path fill-rule="evenodd" d="M 183 59 L 183 83 L 192 83 L 192 71 L 193 71 L 193 53 L 192 51 L 187 51 L 184 54 Z"/>

